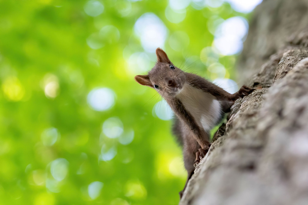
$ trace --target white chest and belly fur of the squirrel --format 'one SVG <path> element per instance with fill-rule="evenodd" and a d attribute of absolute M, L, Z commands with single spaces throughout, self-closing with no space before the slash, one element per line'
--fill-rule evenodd
<path fill-rule="evenodd" d="M 221 118 L 220 102 L 209 93 L 186 84 L 176 97 L 206 132 L 209 132 Z"/>

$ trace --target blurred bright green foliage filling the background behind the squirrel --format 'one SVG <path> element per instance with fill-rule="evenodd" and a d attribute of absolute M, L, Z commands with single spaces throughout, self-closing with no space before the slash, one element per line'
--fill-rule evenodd
<path fill-rule="evenodd" d="M 128 69 L 129 56 L 144 52 L 134 24 L 144 13 L 156 14 L 168 29 L 164 48 L 175 65 L 186 57 L 189 71 L 214 79 L 200 59 L 214 38 L 208 19 L 243 14 L 227 3 L 190 5 L 182 22 L 171 23 L 166 1 L 101 1 L 103 12 L 95 17 L 86 14 L 86 3 L 0 1 L 0 204 L 177 204 L 186 180 L 181 150 L 171 122 L 152 115 L 160 97 Z M 101 48 L 89 47 L 89 36 L 106 25 L 120 35 L 113 30 Z M 175 51 L 169 36 L 178 30 L 189 41 L 176 42 L 182 49 Z M 148 55 L 145 70 L 155 63 Z M 235 56 L 219 62 L 225 77 L 234 78 Z M 99 87 L 115 93 L 105 111 L 87 102 Z M 132 143 L 102 132 L 111 117 L 120 119 L 124 133 L 134 131 Z M 101 159 L 102 147 L 115 156 Z"/>

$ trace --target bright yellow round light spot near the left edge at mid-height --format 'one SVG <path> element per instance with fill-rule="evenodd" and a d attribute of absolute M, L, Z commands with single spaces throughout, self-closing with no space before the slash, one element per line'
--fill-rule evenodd
<path fill-rule="evenodd" d="M 15 76 L 10 76 L 4 80 L 2 90 L 6 99 L 10 101 L 19 101 L 25 95 L 23 86 Z"/>

